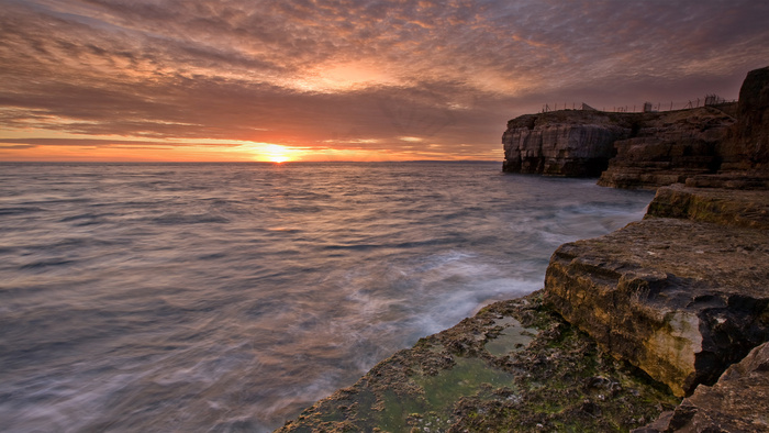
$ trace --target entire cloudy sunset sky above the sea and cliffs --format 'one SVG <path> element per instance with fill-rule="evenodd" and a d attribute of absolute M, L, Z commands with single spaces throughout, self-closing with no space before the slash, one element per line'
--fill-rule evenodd
<path fill-rule="evenodd" d="M 0 0 L 0 162 L 502 160 L 508 120 L 736 99 L 764 0 Z"/>

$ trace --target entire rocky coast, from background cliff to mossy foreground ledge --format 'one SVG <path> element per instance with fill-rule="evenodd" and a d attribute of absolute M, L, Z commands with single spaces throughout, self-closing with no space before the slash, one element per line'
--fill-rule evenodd
<path fill-rule="evenodd" d="M 658 187 L 545 289 L 383 360 L 281 432 L 769 432 L 769 68 L 734 108 L 521 116 L 505 170 Z M 587 144 L 586 144 L 587 143 Z M 614 157 L 614 155 L 612 155 Z"/>

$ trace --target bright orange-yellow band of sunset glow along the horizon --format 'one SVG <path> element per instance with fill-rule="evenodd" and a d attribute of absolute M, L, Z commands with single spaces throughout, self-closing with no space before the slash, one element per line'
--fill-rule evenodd
<path fill-rule="evenodd" d="M 491 153 L 439 152 L 439 144 L 398 136 L 389 148 L 381 138 L 319 140 L 307 145 L 226 138 L 146 138 L 87 135 L 45 130 L 0 131 L 0 162 L 177 162 L 299 163 L 494 159 Z M 408 144 L 408 145 L 404 145 Z"/>

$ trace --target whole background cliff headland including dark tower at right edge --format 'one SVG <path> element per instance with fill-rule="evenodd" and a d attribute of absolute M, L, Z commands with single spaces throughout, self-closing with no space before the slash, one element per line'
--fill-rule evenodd
<path fill-rule="evenodd" d="M 656 189 L 703 174 L 769 179 L 769 67 L 746 77 L 737 103 L 661 113 L 561 110 L 508 122 L 508 173 L 599 177 Z"/>

